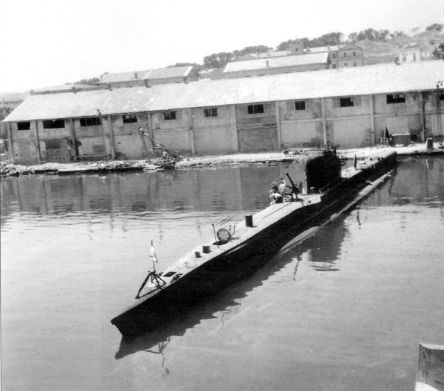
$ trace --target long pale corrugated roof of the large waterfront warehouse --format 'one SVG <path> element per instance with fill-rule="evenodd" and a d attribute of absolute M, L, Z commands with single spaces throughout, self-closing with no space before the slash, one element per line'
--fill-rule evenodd
<path fill-rule="evenodd" d="M 441 60 L 28 97 L 6 121 L 435 90 Z"/>

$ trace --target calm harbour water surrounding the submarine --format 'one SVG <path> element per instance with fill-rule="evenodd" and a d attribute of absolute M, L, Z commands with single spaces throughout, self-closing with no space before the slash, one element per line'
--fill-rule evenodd
<path fill-rule="evenodd" d="M 409 158 L 359 206 L 162 332 L 110 324 L 159 269 L 266 207 L 300 167 L 1 180 L 2 390 L 413 390 L 444 344 L 444 160 Z M 228 223 L 230 224 L 230 223 Z"/>

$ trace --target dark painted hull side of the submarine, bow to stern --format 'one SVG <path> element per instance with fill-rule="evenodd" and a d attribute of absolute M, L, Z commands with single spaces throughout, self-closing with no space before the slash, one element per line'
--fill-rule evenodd
<path fill-rule="evenodd" d="M 123 335 L 138 335 L 159 328 L 221 289 L 253 274 L 284 244 L 311 226 L 329 219 L 350 203 L 368 185 L 368 181 L 374 181 L 395 165 L 396 156 L 388 156 L 375 161 L 373 168 L 357 170 L 352 178 L 337 181 L 327 189 L 320 203 L 294 210 L 252 238 L 196 267 L 173 284 L 142 297 L 137 306 L 114 317 L 112 324 Z"/>

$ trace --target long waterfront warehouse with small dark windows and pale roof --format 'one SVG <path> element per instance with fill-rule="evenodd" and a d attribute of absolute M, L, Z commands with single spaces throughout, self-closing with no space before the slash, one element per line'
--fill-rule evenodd
<path fill-rule="evenodd" d="M 305 57 L 305 56 L 300 56 Z M 367 147 L 443 135 L 443 61 L 33 95 L 4 121 L 15 163 Z M 148 142 L 149 145 L 149 142 Z"/>

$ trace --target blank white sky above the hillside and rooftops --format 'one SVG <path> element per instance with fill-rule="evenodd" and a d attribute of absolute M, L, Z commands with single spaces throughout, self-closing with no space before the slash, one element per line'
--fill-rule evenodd
<path fill-rule="evenodd" d="M 0 92 L 443 19 L 444 0 L 0 0 Z"/>

